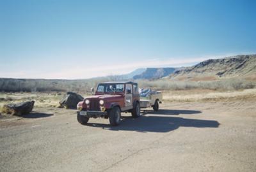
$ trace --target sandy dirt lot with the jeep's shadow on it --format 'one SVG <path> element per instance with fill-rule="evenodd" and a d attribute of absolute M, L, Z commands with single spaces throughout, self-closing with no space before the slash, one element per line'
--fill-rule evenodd
<path fill-rule="evenodd" d="M 54 107 L 2 116 L 0 171 L 256 171 L 255 102 L 164 101 L 118 127 Z"/>

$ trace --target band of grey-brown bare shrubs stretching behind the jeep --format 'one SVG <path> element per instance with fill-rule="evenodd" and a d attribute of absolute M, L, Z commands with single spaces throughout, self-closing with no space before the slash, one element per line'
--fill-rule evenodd
<path fill-rule="evenodd" d="M 89 93 L 91 88 L 97 87 L 100 82 L 117 80 L 115 77 L 93 78 L 88 80 L 34 80 L 34 79 L 10 79 L 0 78 L 0 91 L 4 92 L 83 92 Z M 170 79 L 160 80 L 136 80 L 139 87 L 150 87 L 157 90 L 242 90 L 253 89 L 256 82 L 243 78 L 229 78 L 214 81 L 176 81 Z"/>

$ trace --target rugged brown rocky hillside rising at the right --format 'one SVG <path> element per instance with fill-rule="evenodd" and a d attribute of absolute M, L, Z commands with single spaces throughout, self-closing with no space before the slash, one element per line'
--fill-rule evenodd
<path fill-rule="evenodd" d="M 256 74 L 256 55 L 236 55 L 223 59 L 209 59 L 195 66 L 175 71 L 170 78 L 248 76 Z"/>

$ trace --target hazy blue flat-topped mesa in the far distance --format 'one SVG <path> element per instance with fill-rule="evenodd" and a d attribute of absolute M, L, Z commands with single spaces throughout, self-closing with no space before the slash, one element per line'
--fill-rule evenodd
<path fill-rule="evenodd" d="M 175 70 L 176 68 L 147 68 L 140 75 L 133 76 L 133 79 L 159 79 L 170 75 Z"/>

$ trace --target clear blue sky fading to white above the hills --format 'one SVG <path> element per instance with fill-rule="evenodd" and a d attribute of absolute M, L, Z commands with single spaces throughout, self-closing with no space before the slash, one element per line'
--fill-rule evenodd
<path fill-rule="evenodd" d="M 0 0 L 0 77 L 91 78 L 256 52 L 256 1 Z"/>

